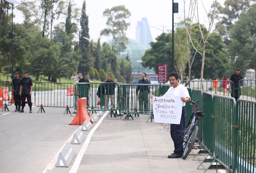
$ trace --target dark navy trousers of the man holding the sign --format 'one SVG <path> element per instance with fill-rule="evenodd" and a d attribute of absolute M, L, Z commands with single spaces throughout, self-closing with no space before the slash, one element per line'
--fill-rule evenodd
<path fill-rule="evenodd" d="M 187 112 L 185 107 L 182 109 L 180 124 L 171 124 L 171 137 L 174 142 L 174 153 L 183 153 L 183 141 L 185 132 L 185 121 L 187 118 Z"/>

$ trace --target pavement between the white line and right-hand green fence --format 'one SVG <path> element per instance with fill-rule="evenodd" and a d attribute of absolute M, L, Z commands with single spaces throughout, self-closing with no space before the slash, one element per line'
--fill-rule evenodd
<path fill-rule="evenodd" d="M 204 156 L 197 156 L 195 161 L 192 159 L 196 150 L 186 160 L 182 158 L 170 159 L 167 156 L 173 153 L 174 145 L 170 137 L 170 131 L 163 129 L 161 124 L 146 122 L 148 115 L 134 117 L 134 120 L 125 120 L 117 117 L 106 118 L 102 114 L 102 122 L 91 137 L 89 145 L 84 148 L 84 141 L 81 144 L 82 150 L 85 149 L 82 161 L 77 168 L 78 173 L 84 172 L 204 172 L 197 170 L 197 167 L 204 159 Z M 95 124 L 94 123 L 94 127 Z M 93 130 L 93 128 L 91 130 Z M 85 137 L 86 138 L 86 137 Z M 73 145 L 72 145 L 73 146 Z M 76 148 L 76 146 L 75 146 Z M 78 147 L 79 148 L 79 147 Z M 79 149 L 75 157 L 78 156 Z M 53 173 L 76 172 L 73 159 L 69 168 L 56 168 Z M 203 164 L 200 169 L 210 165 Z M 207 172 L 216 172 L 208 170 Z"/>

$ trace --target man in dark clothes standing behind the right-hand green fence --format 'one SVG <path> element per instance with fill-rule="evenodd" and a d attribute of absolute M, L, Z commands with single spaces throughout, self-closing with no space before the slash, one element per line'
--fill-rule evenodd
<path fill-rule="evenodd" d="M 233 82 L 234 86 L 232 86 L 232 93 L 231 97 L 234 97 L 237 101 L 238 99 L 238 89 L 240 91 L 239 97 L 241 95 L 241 88 L 239 88 L 239 80 L 242 79 L 242 76 L 240 75 L 240 68 L 237 68 L 236 73 L 232 74 L 230 77 L 230 80 Z"/>

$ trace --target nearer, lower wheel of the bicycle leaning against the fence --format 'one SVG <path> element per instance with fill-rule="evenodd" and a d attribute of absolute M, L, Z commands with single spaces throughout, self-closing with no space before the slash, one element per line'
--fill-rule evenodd
<path fill-rule="evenodd" d="M 195 126 L 189 139 L 188 142 L 185 144 L 185 147 L 183 149 L 183 154 L 182 154 L 182 159 L 185 159 L 188 157 L 188 154 L 191 152 L 191 150 L 194 148 L 194 144 L 196 141 L 196 136 L 198 133 L 198 127 Z"/>

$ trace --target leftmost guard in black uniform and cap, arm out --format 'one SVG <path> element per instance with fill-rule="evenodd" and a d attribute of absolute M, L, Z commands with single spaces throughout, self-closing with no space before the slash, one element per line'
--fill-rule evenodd
<path fill-rule="evenodd" d="M 20 111 L 20 105 L 21 105 L 21 97 L 19 95 L 20 91 L 20 82 L 21 78 L 19 77 L 19 71 L 15 71 L 15 78 L 12 79 L 12 84 L 13 84 L 13 99 L 14 99 L 14 104 L 16 106 L 15 112 Z M 8 84 L 11 86 L 12 84 L 6 80 Z"/>

